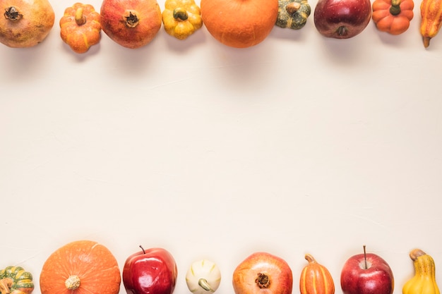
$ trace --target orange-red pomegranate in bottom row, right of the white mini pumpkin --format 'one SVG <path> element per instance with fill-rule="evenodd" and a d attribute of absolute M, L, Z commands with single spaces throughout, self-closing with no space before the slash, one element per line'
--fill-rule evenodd
<path fill-rule="evenodd" d="M 241 262 L 233 273 L 236 294 L 291 294 L 292 269 L 280 257 L 255 252 Z"/>

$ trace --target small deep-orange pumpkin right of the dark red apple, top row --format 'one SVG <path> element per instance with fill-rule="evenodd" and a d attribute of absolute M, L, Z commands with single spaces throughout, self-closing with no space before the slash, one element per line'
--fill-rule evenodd
<path fill-rule="evenodd" d="M 375 0 L 372 8 L 371 18 L 378 30 L 391 35 L 400 35 L 408 30 L 414 16 L 412 0 Z"/>

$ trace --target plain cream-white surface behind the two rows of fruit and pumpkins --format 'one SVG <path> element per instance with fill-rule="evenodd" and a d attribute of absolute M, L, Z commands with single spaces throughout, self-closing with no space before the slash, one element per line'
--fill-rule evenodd
<path fill-rule="evenodd" d="M 233 293 L 234 268 L 261 250 L 286 259 L 294 293 L 307 252 L 336 293 L 364 244 L 395 293 L 415 247 L 442 267 L 442 36 L 424 49 L 420 3 L 400 36 L 371 22 L 327 39 L 312 13 L 249 49 L 162 27 L 135 50 L 103 33 L 83 55 L 59 37 L 73 3 L 52 1 L 42 44 L 0 46 L 0 267 L 31 271 L 35 293 L 47 257 L 80 239 L 121 269 L 138 245 L 164 247 L 175 293 L 201 258 L 221 269 L 217 293 Z"/>

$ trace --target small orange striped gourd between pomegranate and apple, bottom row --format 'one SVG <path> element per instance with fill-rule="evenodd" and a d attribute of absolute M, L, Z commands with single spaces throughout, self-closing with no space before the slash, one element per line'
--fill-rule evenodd
<path fill-rule="evenodd" d="M 299 290 L 301 294 L 333 294 L 335 283 L 333 278 L 323 265 L 318 264 L 313 256 L 306 254 L 307 264 L 301 271 Z"/>

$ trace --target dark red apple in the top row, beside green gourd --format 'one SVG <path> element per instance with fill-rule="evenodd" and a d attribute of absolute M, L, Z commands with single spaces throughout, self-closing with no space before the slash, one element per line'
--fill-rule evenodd
<path fill-rule="evenodd" d="M 370 20 L 369 0 L 319 0 L 313 14 L 318 32 L 335 39 L 359 35 Z"/>

